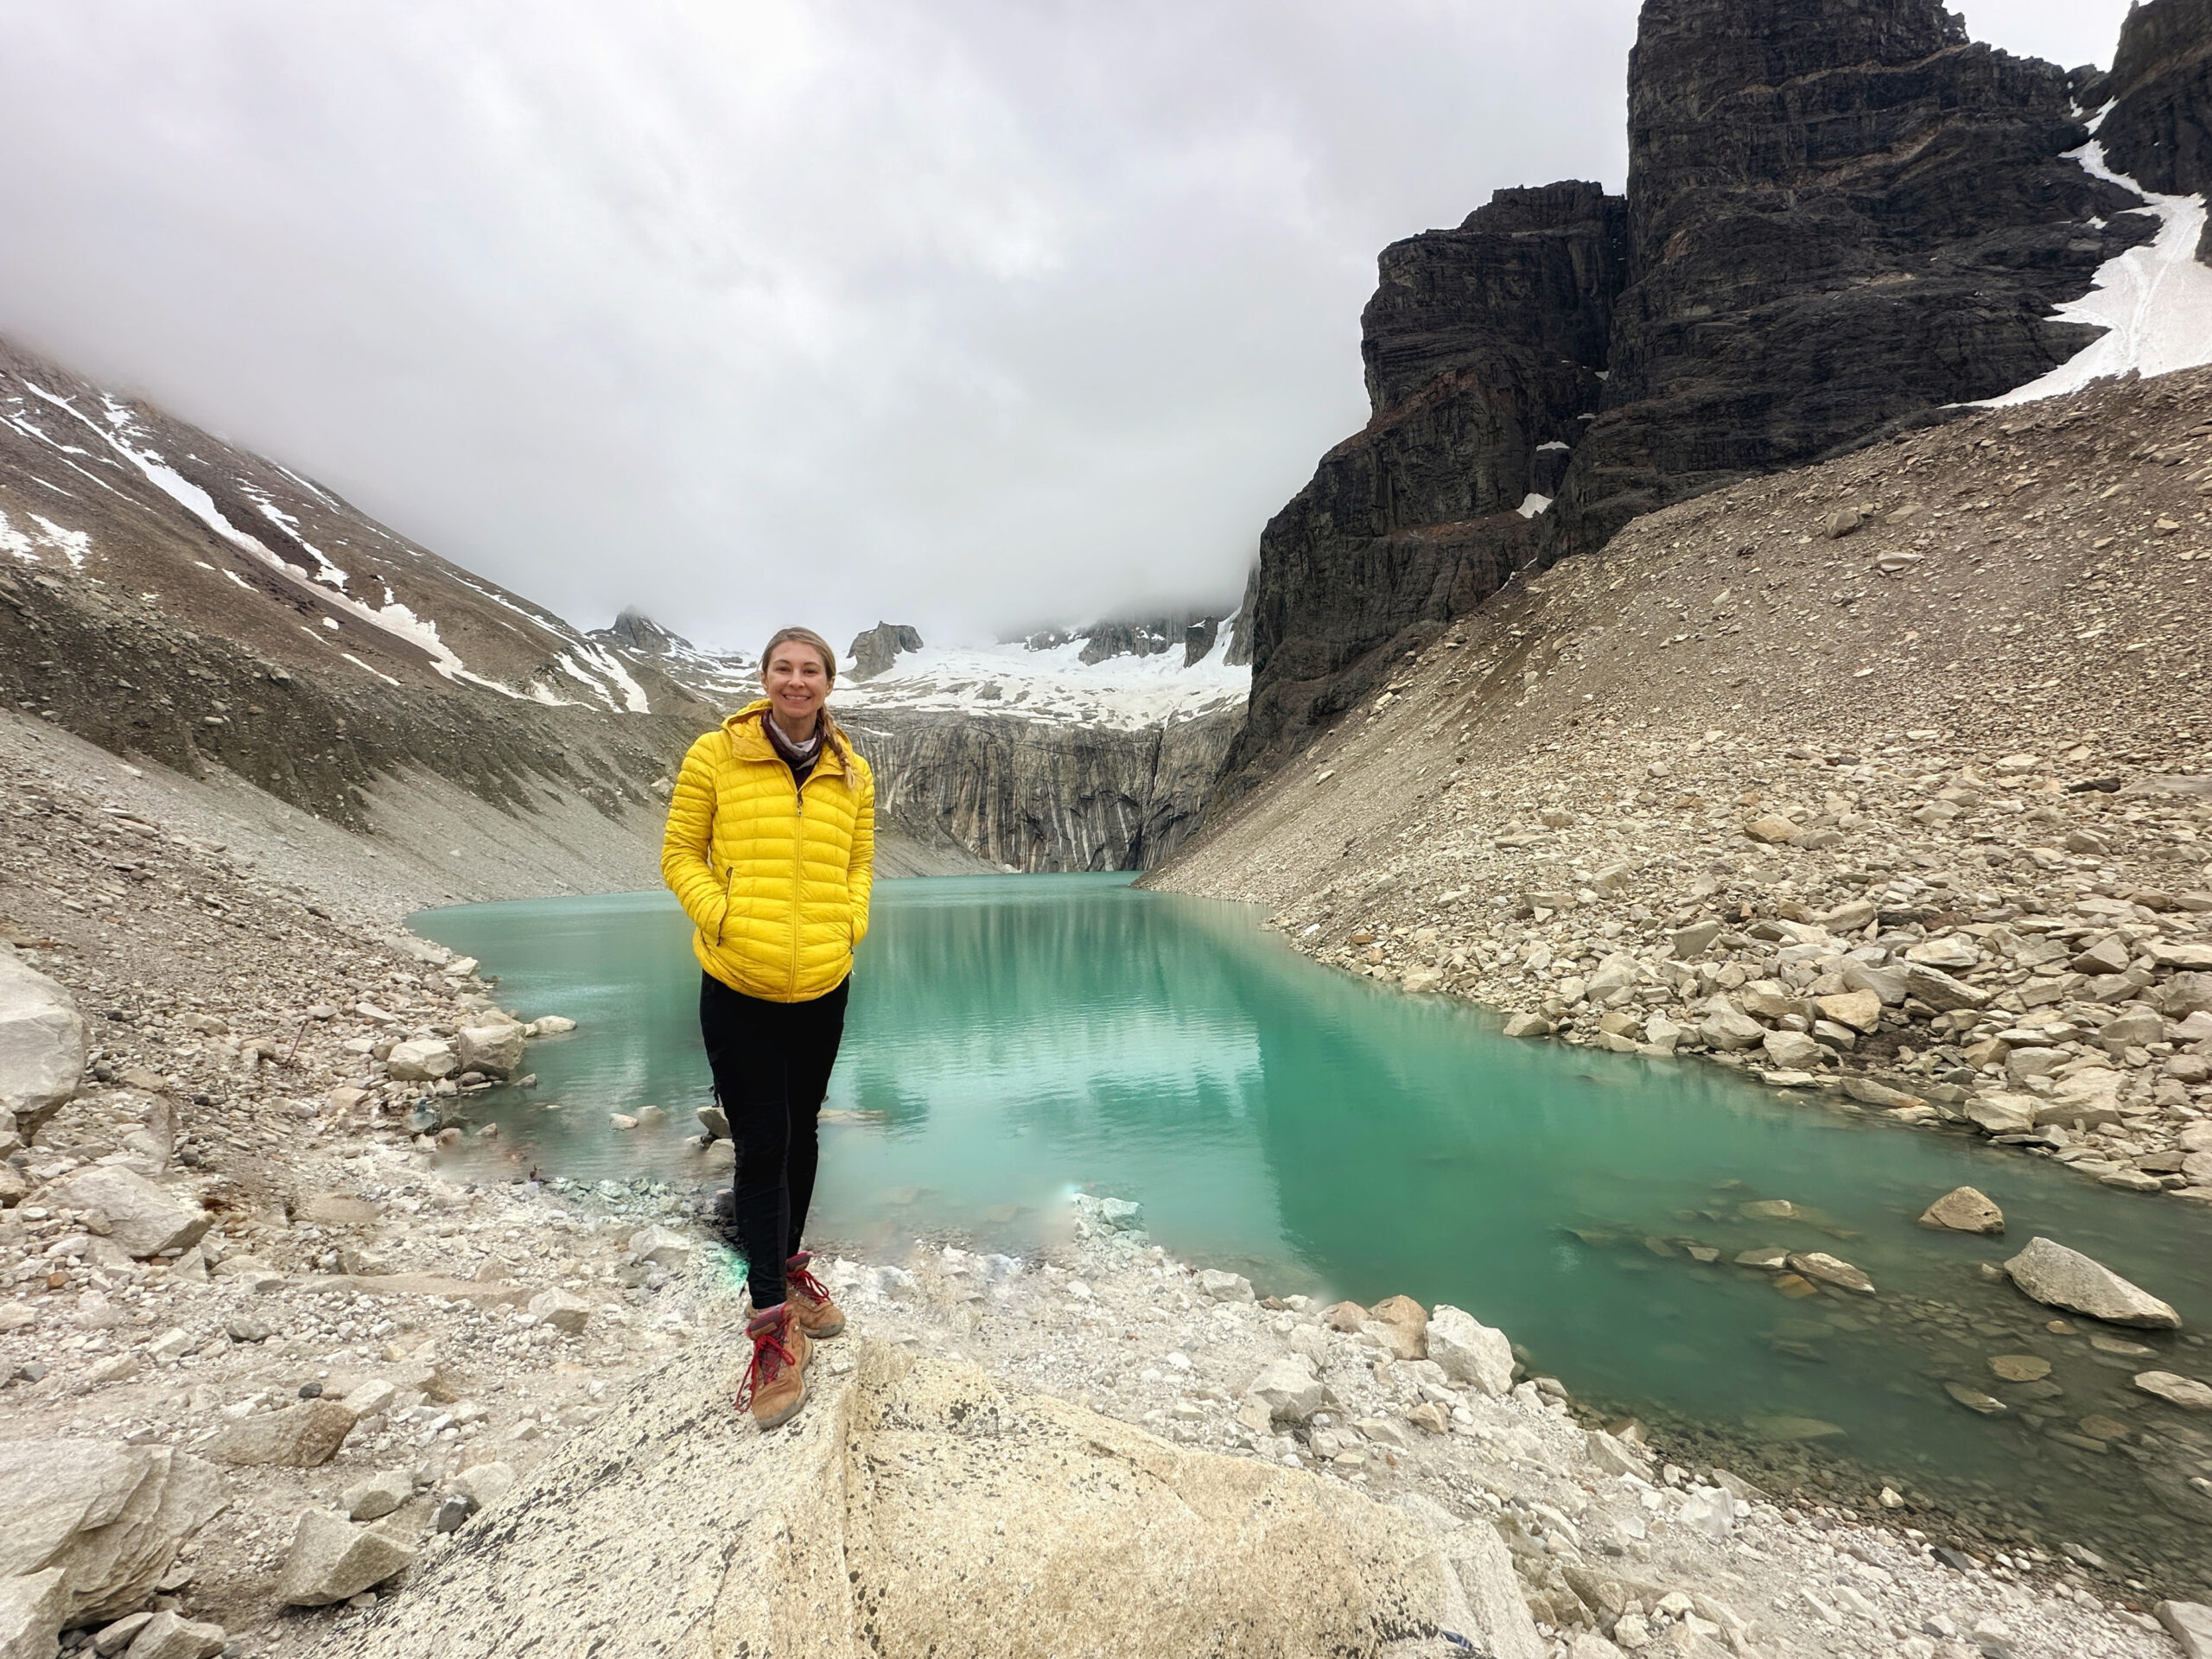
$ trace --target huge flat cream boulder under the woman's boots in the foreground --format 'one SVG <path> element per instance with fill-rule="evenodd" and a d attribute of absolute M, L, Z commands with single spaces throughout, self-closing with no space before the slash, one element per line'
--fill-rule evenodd
<path fill-rule="evenodd" d="M 876 1345 L 761 1436 L 728 1405 L 737 1363 L 732 1329 L 641 1378 L 325 1652 L 1531 1650 L 1484 1626 L 1526 1608 L 1480 1610 L 1416 1515 L 1336 1482 Z"/>

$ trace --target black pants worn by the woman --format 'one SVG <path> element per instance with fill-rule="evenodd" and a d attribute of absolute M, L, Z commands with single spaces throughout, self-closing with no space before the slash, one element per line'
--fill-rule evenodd
<path fill-rule="evenodd" d="M 699 1033 L 737 1141 L 730 1206 L 754 1307 L 783 1301 L 783 1261 L 799 1254 L 821 1157 L 816 1113 L 845 1035 L 845 991 L 763 1002 L 699 975 Z"/>

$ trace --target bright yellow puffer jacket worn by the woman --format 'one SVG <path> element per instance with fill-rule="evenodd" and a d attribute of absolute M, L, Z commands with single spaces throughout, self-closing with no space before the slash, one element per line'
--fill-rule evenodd
<path fill-rule="evenodd" d="M 692 918 L 699 967 L 750 998 L 812 1002 L 852 973 L 876 883 L 876 779 L 823 743 L 792 785 L 761 699 L 684 757 L 668 799 L 661 880 Z M 841 734 L 843 737 L 843 734 Z"/>

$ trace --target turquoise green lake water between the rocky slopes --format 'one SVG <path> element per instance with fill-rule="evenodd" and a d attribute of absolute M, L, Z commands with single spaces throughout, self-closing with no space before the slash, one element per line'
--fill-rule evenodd
<path fill-rule="evenodd" d="M 876 894 L 816 1237 L 1035 1250 L 1062 1237 L 1068 1190 L 1133 1197 L 1170 1252 L 1263 1292 L 1469 1307 L 1679 1462 L 1860 1509 L 1889 1484 L 1898 1520 L 1984 1553 L 2079 1544 L 2146 1586 L 2212 1584 L 2212 1418 L 2130 1385 L 2212 1376 L 2201 1212 L 1719 1066 L 1511 1042 L 1486 1011 L 1301 958 L 1252 907 L 1128 876 Z M 728 1179 L 690 1139 L 710 1099 L 699 971 L 666 894 L 469 905 L 414 927 L 500 973 L 507 1006 L 582 1022 L 531 1044 L 538 1088 L 465 1102 L 500 1137 L 451 1155 L 456 1175 Z M 666 1119 L 608 1128 L 641 1106 Z M 1913 1223 L 1962 1183 L 2004 1208 L 2004 1239 Z M 1812 1214 L 1745 1214 L 1759 1199 Z M 1986 1276 L 2037 1232 L 2168 1298 L 2185 1329 L 2046 1329 L 2055 1310 Z M 1878 1294 L 1792 1301 L 1732 1265 L 1770 1245 L 1829 1250 Z M 2051 1371 L 2006 1383 L 1993 1356 Z"/>

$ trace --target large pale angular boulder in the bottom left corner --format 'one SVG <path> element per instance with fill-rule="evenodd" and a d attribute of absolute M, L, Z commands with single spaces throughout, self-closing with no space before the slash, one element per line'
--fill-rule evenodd
<path fill-rule="evenodd" d="M 0 1579 L 60 1571 L 62 1624 L 144 1606 L 177 1546 L 223 1509 L 215 1471 L 170 1447 L 0 1442 Z"/>

